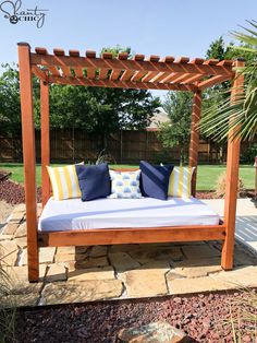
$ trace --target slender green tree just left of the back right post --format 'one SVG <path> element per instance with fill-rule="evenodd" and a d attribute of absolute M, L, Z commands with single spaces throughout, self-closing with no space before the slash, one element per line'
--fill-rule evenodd
<path fill-rule="evenodd" d="M 164 147 L 179 146 L 181 163 L 187 156 L 191 137 L 192 97 L 189 92 L 168 92 L 162 104 L 170 122 L 160 126 L 159 138 Z"/>

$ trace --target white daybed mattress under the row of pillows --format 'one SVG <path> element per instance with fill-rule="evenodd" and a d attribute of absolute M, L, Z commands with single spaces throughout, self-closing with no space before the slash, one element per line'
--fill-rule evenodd
<path fill-rule="evenodd" d="M 38 229 L 57 232 L 115 227 L 216 225 L 219 215 L 201 201 L 189 198 L 48 200 Z"/>

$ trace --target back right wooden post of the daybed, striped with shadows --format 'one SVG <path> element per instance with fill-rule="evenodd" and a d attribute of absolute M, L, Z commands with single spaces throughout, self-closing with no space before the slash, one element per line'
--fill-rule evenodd
<path fill-rule="evenodd" d="M 189 166 L 195 167 L 195 172 L 192 177 L 192 196 L 196 194 L 196 174 L 198 163 L 198 150 L 199 150 L 199 130 L 197 128 L 200 120 L 201 111 L 201 92 L 197 90 L 193 97 L 193 110 L 191 121 L 191 143 L 189 143 Z"/>

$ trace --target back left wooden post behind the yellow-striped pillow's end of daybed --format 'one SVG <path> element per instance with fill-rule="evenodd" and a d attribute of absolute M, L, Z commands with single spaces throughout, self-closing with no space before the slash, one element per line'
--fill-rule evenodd
<path fill-rule="evenodd" d="M 50 164 L 50 130 L 49 130 L 49 85 L 40 80 L 40 109 L 41 109 L 41 190 L 42 206 L 50 198 L 50 179 L 47 166 Z"/>

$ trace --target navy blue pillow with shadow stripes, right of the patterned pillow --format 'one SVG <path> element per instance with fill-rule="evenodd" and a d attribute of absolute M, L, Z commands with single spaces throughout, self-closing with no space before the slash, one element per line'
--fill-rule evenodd
<path fill-rule="evenodd" d="M 140 190 L 144 197 L 168 199 L 170 175 L 174 166 L 154 166 L 140 161 Z"/>

